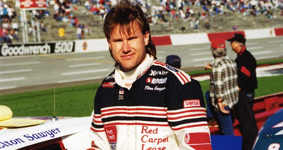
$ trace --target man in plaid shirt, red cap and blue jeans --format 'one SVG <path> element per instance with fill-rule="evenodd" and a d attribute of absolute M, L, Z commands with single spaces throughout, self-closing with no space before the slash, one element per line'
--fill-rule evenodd
<path fill-rule="evenodd" d="M 207 63 L 205 69 L 212 69 L 209 92 L 216 111 L 214 118 L 224 135 L 234 135 L 231 109 L 238 101 L 237 65 L 226 56 L 224 39 L 212 40 L 211 51 L 215 59 L 212 65 Z"/>

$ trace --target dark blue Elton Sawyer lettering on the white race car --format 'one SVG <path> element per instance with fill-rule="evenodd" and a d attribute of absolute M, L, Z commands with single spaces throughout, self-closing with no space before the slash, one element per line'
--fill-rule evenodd
<path fill-rule="evenodd" d="M 61 133 L 59 128 L 39 132 L 39 133 L 34 133 L 34 134 L 24 134 L 19 138 L 12 139 L 12 140 L 7 140 L 7 141 L 0 141 L 0 149 L 4 147 L 9 147 L 12 145 L 17 145 L 17 144 L 22 144 L 25 141 L 33 141 L 41 138 L 46 138 L 46 137 L 55 137 L 55 134 Z"/>

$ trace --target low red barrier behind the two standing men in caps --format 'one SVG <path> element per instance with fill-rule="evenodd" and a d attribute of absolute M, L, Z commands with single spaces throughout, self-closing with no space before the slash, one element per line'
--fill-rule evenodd
<path fill-rule="evenodd" d="M 262 124 L 273 114 L 278 112 L 279 110 L 283 109 L 283 92 L 266 95 L 266 96 L 260 96 L 256 97 L 254 99 L 254 113 L 255 113 L 255 119 L 256 124 L 258 126 L 258 129 L 262 126 Z M 236 136 L 241 136 L 241 133 L 238 129 L 239 122 L 235 119 L 235 122 L 233 124 L 234 127 L 234 133 Z M 214 134 L 220 134 L 218 127 L 210 126 L 210 133 L 212 135 Z"/>

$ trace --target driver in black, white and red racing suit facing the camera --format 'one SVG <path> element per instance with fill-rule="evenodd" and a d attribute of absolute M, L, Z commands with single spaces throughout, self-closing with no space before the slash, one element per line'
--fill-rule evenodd
<path fill-rule="evenodd" d="M 103 29 L 116 69 L 96 92 L 92 149 L 211 150 L 200 84 L 155 60 L 139 6 L 122 0 Z"/>

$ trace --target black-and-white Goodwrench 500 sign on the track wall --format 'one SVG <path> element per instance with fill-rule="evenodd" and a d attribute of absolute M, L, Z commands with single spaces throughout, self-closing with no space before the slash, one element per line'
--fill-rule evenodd
<path fill-rule="evenodd" d="M 0 45 L 0 56 L 69 53 L 75 51 L 75 42 L 57 42 L 23 45 Z"/>

